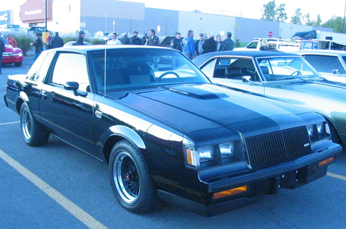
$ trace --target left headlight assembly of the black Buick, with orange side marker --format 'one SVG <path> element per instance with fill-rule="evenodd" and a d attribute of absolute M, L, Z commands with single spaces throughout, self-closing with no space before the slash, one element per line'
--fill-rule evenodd
<path fill-rule="evenodd" d="M 244 161 L 243 149 L 240 140 L 198 148 L 185 146 L 186 164 L 196 169 L 205 169 Z"/>

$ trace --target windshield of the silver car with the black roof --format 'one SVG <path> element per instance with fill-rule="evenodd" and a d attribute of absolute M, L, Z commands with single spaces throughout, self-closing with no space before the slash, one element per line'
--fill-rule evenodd
<path fill-rule="evenodd" d="M 257 58 L 261 74 L 266 81 L 286 80 L 288 78 L 323 79 L 303 57 Z"/>

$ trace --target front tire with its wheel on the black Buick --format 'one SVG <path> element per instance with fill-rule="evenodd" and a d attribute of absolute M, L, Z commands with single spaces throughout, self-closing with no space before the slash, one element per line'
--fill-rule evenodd
<path fill-rule="evenodd" d="M 109 159 L 109 178 L 122 207 L 144 213 L 158 207 L 157 190 L 142 154 L 127 140 L 118 142 Z"/>

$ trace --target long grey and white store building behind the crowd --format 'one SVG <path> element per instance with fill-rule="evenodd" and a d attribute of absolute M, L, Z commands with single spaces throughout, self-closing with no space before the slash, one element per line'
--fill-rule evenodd
<path fill-rule="evenodd" d="M 13 23 L 22 27 L 45 25 L 45 1 L 15 1 L 20 4 L 0 5 L 0 25 Z M 232 32 L 232 38 L 240 42 L 249 42 L 254 37 L 290 38 L 301 30 L 324 30 L 331 28 L 296 25 L 274 21 L 248 19 L 194 12 L 146 8 L 144 3 L 115 0 L 46 0 L 47 29 L 58 31 L 61 35 L 84 30 L 93 36 L 97 31 L 115 31 L 117 33 L 139 31 L 148 33 L 155 29 L 156 35 L 174 35 L 180 32 L 186 36 L 188 30 L 194 34 L 213 32 L 225 39 L 226 32 Z M 106 20 L 107 12 L 107 20 Z M 113 25 L 114 23 L 114 25 Z M 114 30 L 113 30 L 114 28 Z"/>

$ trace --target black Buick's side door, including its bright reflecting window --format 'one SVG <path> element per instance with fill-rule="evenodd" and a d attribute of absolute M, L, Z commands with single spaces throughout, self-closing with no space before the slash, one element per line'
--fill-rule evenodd
<path fill-rule="evenodd" d="M 76 92 L 64 88 L 66 82 L 79 83 Z M 95 149 L 93 99 L 86 56 L 56 52 L 42 86 L 40 115 L 52 134 L 85 152 Z"/>

